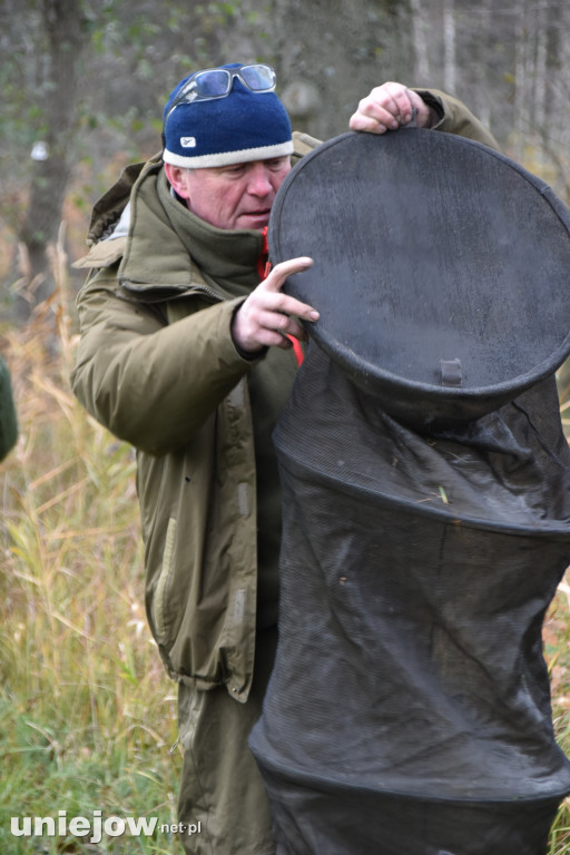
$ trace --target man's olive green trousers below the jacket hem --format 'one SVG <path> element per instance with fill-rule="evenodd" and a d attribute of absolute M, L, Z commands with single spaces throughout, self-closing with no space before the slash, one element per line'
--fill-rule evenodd
<path fill-rule="evenodd" d="M 245 704 L 225 687 L 178 688 L 184 748 L 178 798 L 180 841 L 187 855 L 274 855 L 269 802 L 247 738 L 262 712 L 277 628 L 259 630 L 255 674 Z"/>

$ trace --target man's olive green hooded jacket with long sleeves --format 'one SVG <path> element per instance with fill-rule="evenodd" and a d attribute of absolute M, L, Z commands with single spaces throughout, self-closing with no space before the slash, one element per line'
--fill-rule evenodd
<path fill-rule="evenodd" d="M 454 99 L 422 92 L 440 128 L 495 146 Z M 296 157 L 316 140 L 295 135 Z M 248 372 L 236 351 L 229 298 L 204 275 L 157 193 L 161 161 L 129 167 L 94 209 L 92 268 L 78 297 L 73 391 L 115 435 L 137 449 L 146 607 L 169 675 L 199 688 L 226 685 L 245 701 L 256 629 L 256 473 Z M 108 238 L 130 199 L 128 234 Z M 173 204 L 178 204 L 173 199 Z M 212 229 L 210 226 L 205 228 Z M 222 233 L 246 242 L 257 232 Z M 286 360 L 271 348 L 265 358 Z"/>

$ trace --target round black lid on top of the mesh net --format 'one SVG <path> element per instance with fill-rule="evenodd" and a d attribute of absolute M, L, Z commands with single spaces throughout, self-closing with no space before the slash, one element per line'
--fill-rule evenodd
<path fill-rule="evenodd" d="M 317 344 L 397 419 L 476 419 L 570 353 L 570 212 L 485 146 L 424 129 L 343 134 L 303 158 L 269 223 Z"/>

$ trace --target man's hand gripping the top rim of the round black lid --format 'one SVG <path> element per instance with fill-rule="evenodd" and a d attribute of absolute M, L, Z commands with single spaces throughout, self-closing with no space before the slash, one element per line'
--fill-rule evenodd
<path fill-rule="evenodd" d="M 385 134 L 386 130 L 407 125 L 412 120 L 414 109 L 417 127 L 430 128 L 434 114 L 417 92 L 402 83 L 383 83 L 373 89 L 367 98 L 362 99 L 358 109 L 351 117 L 350 127 L 352 130 Z"/>

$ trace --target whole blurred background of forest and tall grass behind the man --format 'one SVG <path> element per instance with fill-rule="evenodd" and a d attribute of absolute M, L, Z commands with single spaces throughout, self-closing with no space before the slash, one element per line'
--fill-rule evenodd
<path fill-rule="evenodd" d="M 69 386 L 71 264 L 92 203 L 159 149 L 171 88 L 232 60 L 274 65 L 293 125 L 321 138 L 385 80 L 444 89 L 570 200 L 569 0 L 0 0 L 0 353 L 20 426 L 0 464 L 6 855 L 180 852 L 166 833 L 28 838 L 10 818 L 176 822 L 176 687 L 146 625 L 135 458 Z M 569 581 L 543 629 L 568 754 Z M 549 855 L 570 855 L 568 799 Z"/>

